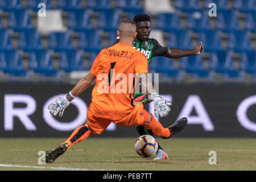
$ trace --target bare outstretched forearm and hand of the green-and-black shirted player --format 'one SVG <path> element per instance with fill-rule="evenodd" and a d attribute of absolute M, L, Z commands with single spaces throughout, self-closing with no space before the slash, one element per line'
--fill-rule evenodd
<path fill-rule="evenodd" d="M 168 51 L 164 54 L 164 57 L 168 58 L 179 58 L 185 56 L 195 56 L 200 55 L 204 51 L 202 42 L 195 49 L 178 49 L 178 48 L 169 48 Z"/>

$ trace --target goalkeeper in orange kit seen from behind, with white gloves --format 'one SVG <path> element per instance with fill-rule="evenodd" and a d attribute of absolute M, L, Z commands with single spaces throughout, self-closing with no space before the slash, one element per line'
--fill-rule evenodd
<path fill-rule="evenodd" d="M 108 49 L 102 49 L 94 60 L 90 72 L 81 78 L 66 96 L 57 98 L 48 106 L 52 115 L 62 117 L 70 102 L 96 80 L 85 125 L 77 127 L 65 142 L 48 151 L 47 163 L 52 163 L 73 144 L 94 134 L 101 134 L 111 122 L 121 126 L 144 125 L 147 130 L 152 130 L 152 134 L 163 138 L 171 137 L 187 125 L 187 118 L 181 118 L 170 127 L 164 128 L 160 122 L 156 121 L 154 115 L 143 109 L 141 102 L 134 101 L 136 79 L 134 81 L 133 76 L 134 74 L 140 77 L 147 76 L 147 59 L 132 46 L 137 35 L 136 24 L 133 20 L 121 20 L 117 34 L 120 37 L 119 43 Z M 111 71 L 115 72 L 116 77 L 110 74 Z M 125 77 L 127 82 L 124 81 Z M 122 85 L 120 86 L 122 92 L 119 92 L 120 90 L 113 92 L 115 85 Z M 155 110 L 159 116 L 166 116 L 170 111 L 170 102 L 163 100 L 162 96 L 154 92 L 151 82 L 142 82 L 142 88 L 154 101 Z"/>

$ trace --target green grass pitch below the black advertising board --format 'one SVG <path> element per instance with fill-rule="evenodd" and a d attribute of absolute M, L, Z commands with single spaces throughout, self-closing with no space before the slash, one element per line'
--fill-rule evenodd
<path fill-rule="evenodd" d="M 39 165 L 38 152 L 55 148 L 65 138 L 0 138 L 0 170 L 256 170 L 255 138 L 158 138 L 168 160 L 141 158 L 134 150 L 135 139 L 88 138 L 54 163 Z M 209 164 L 209 151 L 216 151 L 216 165 Z"/>

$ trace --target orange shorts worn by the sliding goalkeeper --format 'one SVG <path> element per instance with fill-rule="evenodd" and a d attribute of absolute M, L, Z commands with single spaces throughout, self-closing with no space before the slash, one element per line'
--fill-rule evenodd
<path fill-rule="evenodd" d="M 146 110 L 143 111 L 143 104 L 141 102 L 135 103 L 136 104 L 134 106 L 133 111 L 131 111 L 130 114 L 128 114 L 125 118 L 119 121 L 113 121 L 112 119 L 97 117 L 96 115 L 92 114 L 89 107 L 87 113 L 87 124 L 89 125 L 90 129 L 97 134 L 101 134 L 102 131 L 104 131 L 111 122 L 121 126 L 143 125 L 145 122 L 147 122 L 148 115 L 146 115 L 147 113 L 145 113 Z"/>

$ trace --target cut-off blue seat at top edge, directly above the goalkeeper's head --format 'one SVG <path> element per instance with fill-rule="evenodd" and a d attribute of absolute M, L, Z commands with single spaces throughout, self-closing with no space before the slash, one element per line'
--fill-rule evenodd
<path fill-rule="evenodd" d="M 139 0 L 117 0 L 116 8 L 123 11 L 143 10 L 141 1 Z"/>

